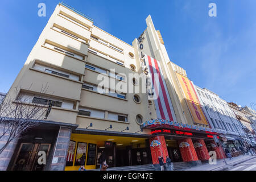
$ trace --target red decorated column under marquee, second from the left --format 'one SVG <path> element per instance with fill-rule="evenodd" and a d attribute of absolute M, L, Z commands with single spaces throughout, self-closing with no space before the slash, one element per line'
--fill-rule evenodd
<path fill-rule="evenodd" d="M 196 155 L 196 150 L 193 146 L 191 138 L 185 138 L 178 141 L 180 154 L 183 159 L 183 162 L 191 162 L 198 160 Z"/>

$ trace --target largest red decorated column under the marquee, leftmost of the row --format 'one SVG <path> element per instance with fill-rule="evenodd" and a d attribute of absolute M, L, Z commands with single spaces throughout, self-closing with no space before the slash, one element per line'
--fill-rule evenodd
<path fill-rule="evenodd" d="M 159 164 L 158 156 L 163 156 L 163 162 L 166 162 L 166 157 L 168 156 L 168 151 L 166 147 L 166 139 L 164 136 L 156 136 L 150 138 L 150 150 L 152 155 L 153 164 Z"/>

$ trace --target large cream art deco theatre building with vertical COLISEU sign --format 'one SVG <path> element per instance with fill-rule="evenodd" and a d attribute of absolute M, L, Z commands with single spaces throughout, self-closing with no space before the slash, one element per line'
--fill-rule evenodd
<path fill-rule="evenodd" d="M 130 45 L 68 5 L 56 6 L 6 96 L 19 88 L 24 104 L 51 103 L 51 112 L 9 146 L 8 158 L 0 155 L 1 170 L 77 170 L 82 154 L 86 169 L 99 168 L 101 155 L 109 167 L 157 167 L 158 155 L 198 164 L 211 150 L 225 158 L 196 86 L 170 60 L 151 16 L 146 23 Z M 110 84 L 98 86 L 104 79 Z M 42 150 L 46 165 L 36 160 Z"/>

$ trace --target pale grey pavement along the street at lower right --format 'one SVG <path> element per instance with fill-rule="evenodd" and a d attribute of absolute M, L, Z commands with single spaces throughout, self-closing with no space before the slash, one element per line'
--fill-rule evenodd
<path fill-rule="evenodd" d="M 225 165 L 224 160 L 220 159 L 217 160 L 217 164 L 210 165 L 209 163 L 202 164 L 200 166 L 188 168 L 185 171 L 224 171 L 228 169 L 229 167 L 236 166 L 237 164 L 241 164 L 243 162 L 246 162 L 247 160 L 256 158 L 256 155 L 240 155 L 236 158 L 233 158 L 232 160 L 226 159 L 226 163 L 228 165 Z"/>

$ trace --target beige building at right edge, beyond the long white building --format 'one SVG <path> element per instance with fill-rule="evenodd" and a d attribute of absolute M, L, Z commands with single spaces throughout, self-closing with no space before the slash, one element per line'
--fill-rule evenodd
<path fill-rule="evenodd" d="M 247 144 L 255 144 L 255 130 L 253 129 L 252 122 L 249 117 L 251 114 L 243 109 L 241 106 L 238 106 L 234 102 L 228 102 L 229 107 L 232 109 L 233 113 L 236 115 L 236 118 L 243 126 L 243 130 L 246 133 Z"/>

